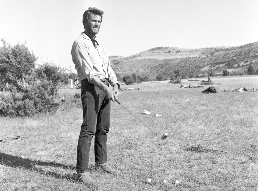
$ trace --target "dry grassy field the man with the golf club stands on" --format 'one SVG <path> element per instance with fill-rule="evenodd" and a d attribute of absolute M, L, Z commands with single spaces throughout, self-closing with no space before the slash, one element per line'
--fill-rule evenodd
<path fill-rule="evenodd" d="M 0 142 L 0 190 L 258 190 L 258 92 L 224 92 L 258 88 L 258 76 L 212 80 L 217 94 L 201 93 L 209 86 L 182 89 L 167 81 L 121 84 L 139 88 L 121 91 L 119 101 L 145 124 L 112 103 L 108 162 L 121 173 L 95 172 L 92 144 L 95 185 L 75 181 L 82 109 L 73 95 L 80 89 L 63 87 L 65 102 L 55 114 L 1 117 L 0 136 L 25 138 Z M 169 137 L 162 141 L 154 131 Z"/>

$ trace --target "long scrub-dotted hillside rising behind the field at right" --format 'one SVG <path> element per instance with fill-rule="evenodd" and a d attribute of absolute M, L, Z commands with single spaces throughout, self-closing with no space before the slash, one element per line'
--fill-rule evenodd
<path fill-rule="evenodd" d="M 246 74 L 249 64 L 258 69 L 258 42 L 237 47 L 210 47 L 183 49 L 157 47 L 129 57 L 109 57 L 113 70 L 120 76 L 136 73 L 139 76 L 158 74 L 169 78 L 180 68 L 186 76 L 213 72 L 220 74 L 228 70 L 230 74 Z"/>

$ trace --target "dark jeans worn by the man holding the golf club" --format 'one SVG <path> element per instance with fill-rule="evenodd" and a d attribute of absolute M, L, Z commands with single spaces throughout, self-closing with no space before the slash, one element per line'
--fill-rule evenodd
<path fill-rule="evenodd" d="M 102 83 L 109 86 L 107 80 Z M 88 80 L 83 80 L 81 99 L 83 123 L 77 146 L 77 173 L 88 172 L 89 152 L 94 135 L 95 161 L 98 164 L 107 162 L 107 133 L 110 127 L 111 102 L 100 88 L 89 83 Z"/>

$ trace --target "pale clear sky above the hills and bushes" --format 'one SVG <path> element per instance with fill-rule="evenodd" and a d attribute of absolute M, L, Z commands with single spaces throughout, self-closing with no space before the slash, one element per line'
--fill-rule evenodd
<path fill-rule="evenodd" d="M 97 36 L 108 56 L 258 41 L 257 0 L 0 0 L 0 38 L 75 72 L 71 47 L 88 7 L 104 11 Z"/>

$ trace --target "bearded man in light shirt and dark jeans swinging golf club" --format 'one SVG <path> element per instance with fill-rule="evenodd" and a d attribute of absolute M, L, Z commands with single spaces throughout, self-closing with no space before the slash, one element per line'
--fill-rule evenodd
<path fill-rule="evenodd" d="M 72 45 L 72 61 L 81 81 L 83 123 L 77 146 L 77 179 L 94 183 L 88 173 L 89 151 L 95 135 L 95 169 L 116 174 L 107 163 L 107 133 L 110 127 L 111 101 L 119 94 L 119 83 L 110 67 L 104 45 L 95 36 L 104 12 L 89 7 L 83 14 L 84 32 Z M 113 90 L 109 88 L 113 86 Z"/>

